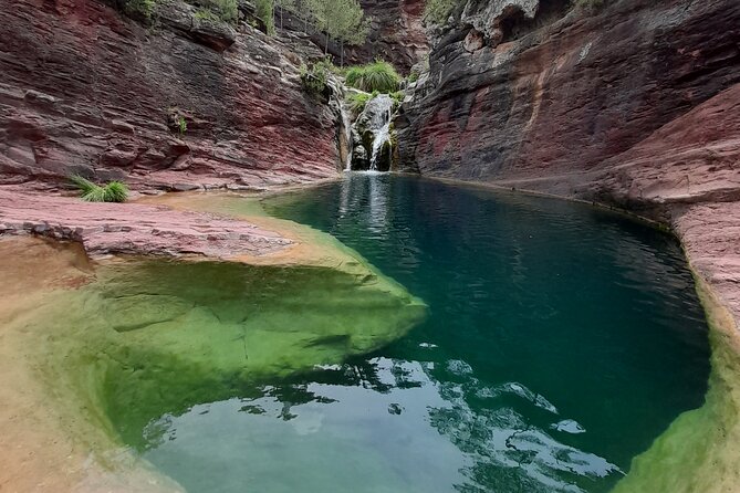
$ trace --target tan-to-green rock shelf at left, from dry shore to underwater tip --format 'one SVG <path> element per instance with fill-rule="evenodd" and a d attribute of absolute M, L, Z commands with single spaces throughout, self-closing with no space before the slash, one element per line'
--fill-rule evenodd
<path fill-rule="evenodd" d="M 0 395 L 28 402 L 0 412 L 0 431 L 29 431 L 0 452 L 15 464 L 6 470 L 11 476 L 0 473 L 0 484 L 23 490 L 43 466 L 54 491 L 176 490 L 122 451 L 122 437 L 145 447 L 140 433 L 152 419 L 238 396 L 261 377 L 341 363 L 425 316 L 419 300 L 348 250 L 332 253 L 333 244 L 324 241 L 323 256 L 308 266 L 132 259 L 90 265 L 76 243 L 70 246 L 79 254 L 60 255 L 55 243 L 0 241 Z M 43 454 L 19 459 L 48 442 Z"/>

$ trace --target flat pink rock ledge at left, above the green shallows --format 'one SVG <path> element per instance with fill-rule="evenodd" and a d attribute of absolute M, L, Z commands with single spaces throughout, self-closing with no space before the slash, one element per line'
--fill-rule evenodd
<path fill-rule="evenodd" d="M 292 244 L 280 234 L 205 212 L 77 198 L 0 187 L 0 235 L 32 233 L 81 241 L 87 253 L 227 259 L 263 255 Z"/>

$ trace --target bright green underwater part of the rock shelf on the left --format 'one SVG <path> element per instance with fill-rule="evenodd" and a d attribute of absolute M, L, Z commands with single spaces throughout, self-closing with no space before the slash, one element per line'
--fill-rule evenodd
<path fill-rule="evenodd" d="M 371 270 L 133 260 L 98 268 L 94 283 L 40 313 L 54 335 L 41 368 L 143 445 L 142 428 L 163 413 L 376 349 L 425 310 Z"/>

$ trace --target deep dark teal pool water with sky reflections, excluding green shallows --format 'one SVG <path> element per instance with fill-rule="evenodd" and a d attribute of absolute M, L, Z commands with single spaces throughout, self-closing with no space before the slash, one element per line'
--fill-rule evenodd
<path fill-rule="evenodd" d="M 702 402 L 707 326 L 668 235 L 390 175 L 265 208 L 357 250 L 429 316 L 375 354 L 152 422 L 145 457 L 188 491 L 608 491 Z"/>

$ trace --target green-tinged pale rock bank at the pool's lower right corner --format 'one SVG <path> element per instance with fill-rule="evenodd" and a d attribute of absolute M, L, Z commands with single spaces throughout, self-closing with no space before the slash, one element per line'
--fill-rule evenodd
<path fill-rule="evenodd" d="M 680 415 L 637 455 L 614 493 L 734 492 L 740 487 L 740 335 L 732 314 L 695 275 L 709 322 L 711 374 L 703 406 Z"/>

